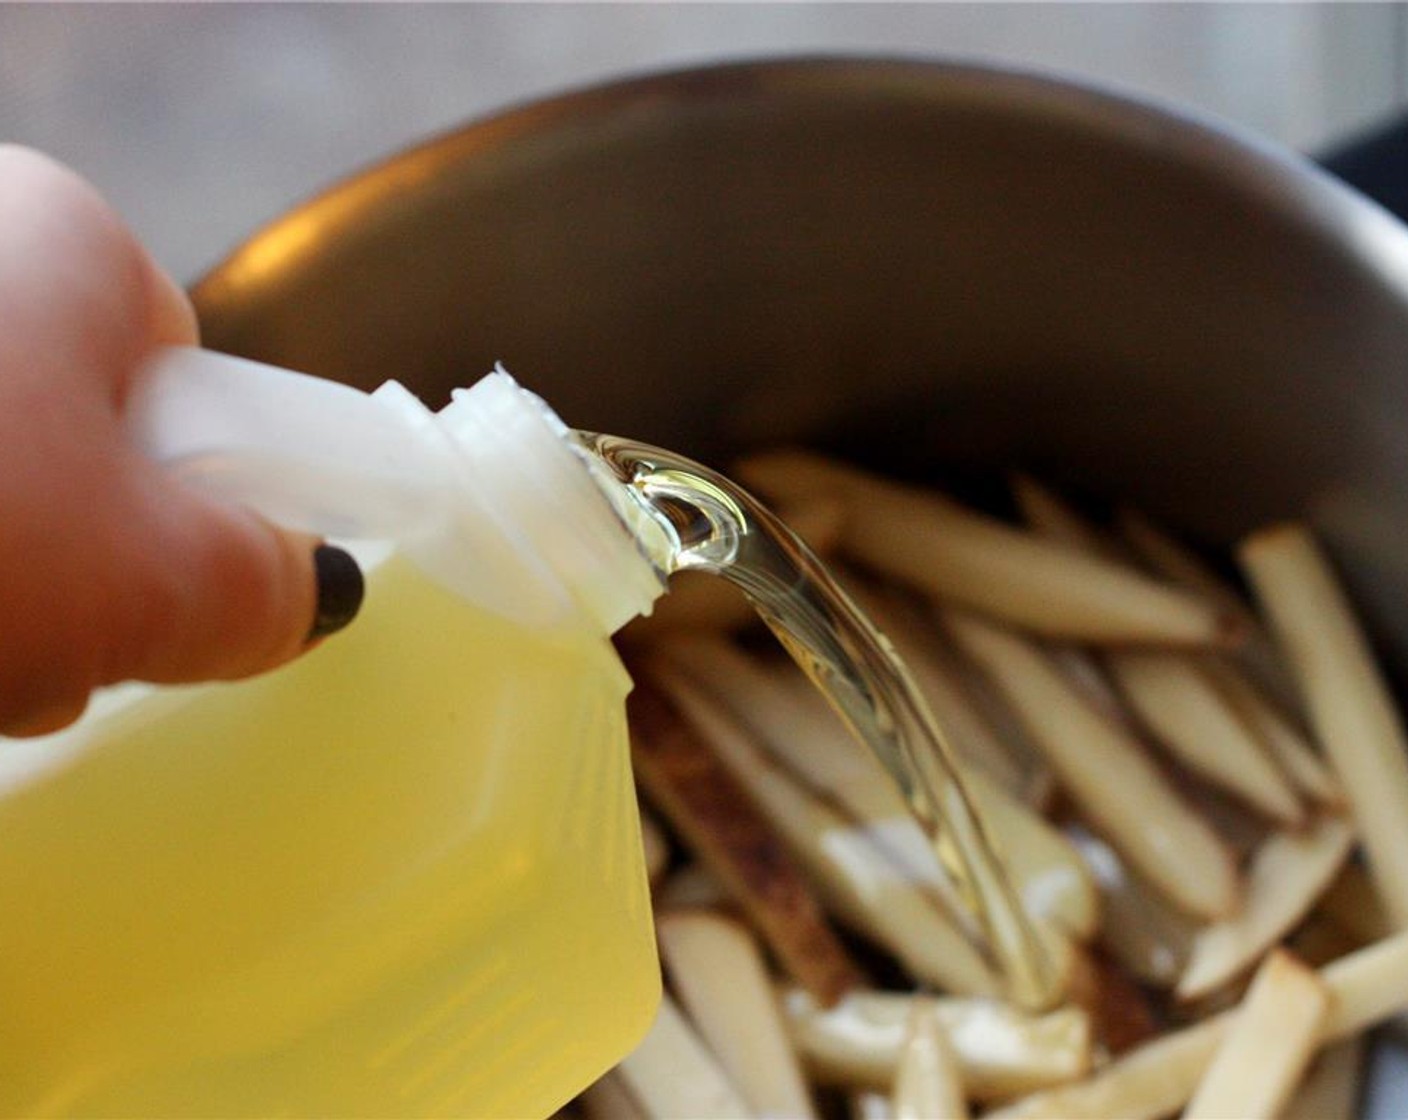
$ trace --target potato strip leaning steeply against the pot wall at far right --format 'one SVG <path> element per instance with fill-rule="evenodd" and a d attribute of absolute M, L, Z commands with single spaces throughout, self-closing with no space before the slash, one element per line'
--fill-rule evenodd
<path fill-rule="evenodd" d="M 1286 649 L 1311 723 L 1345 786 L 1369 872 L 1397 928 L 1408 927 L 1408 737 L 1328 561 L 1301 525 L 1239 549 Z"/>

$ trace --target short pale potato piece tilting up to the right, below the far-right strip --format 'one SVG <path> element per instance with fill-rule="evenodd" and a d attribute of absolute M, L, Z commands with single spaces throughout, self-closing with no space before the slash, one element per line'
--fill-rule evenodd
<path fill-rule="evenodd" d="M 1252 968 L 1311 911 L 1343 866 L 1353 840 L 1349 823 L 1339 817 L 1266 840 L 1246 872 L 1242 909 L 1205 926 L 1194 938 L 1178 997 L 1201 999 Z"/>

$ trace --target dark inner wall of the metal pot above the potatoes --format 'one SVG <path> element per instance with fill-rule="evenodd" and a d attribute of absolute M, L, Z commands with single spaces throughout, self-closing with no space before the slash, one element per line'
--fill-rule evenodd
<path fill-rule="evenodd" d="M 503 361 L 712 463 L 1019 463 L 1208 542 L 1308 514 L 1408 666 L 1408 235 L 1308 165 L 1024 75 L 666 75 L 397 156 L 208 276 L 217 349 L 431 403 Z M 1400 602 L 1402 600 L 1402 602 Z"/>

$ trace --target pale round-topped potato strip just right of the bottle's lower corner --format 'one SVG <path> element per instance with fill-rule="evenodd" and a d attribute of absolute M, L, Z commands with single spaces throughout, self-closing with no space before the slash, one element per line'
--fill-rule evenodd
<path fill-rule="evenodd" d="M 660 914 L 656 934 L 680 1004 L 748 1106 L 760 1117 L 814 1117 L 752 934 L 703 910 Z"/>

